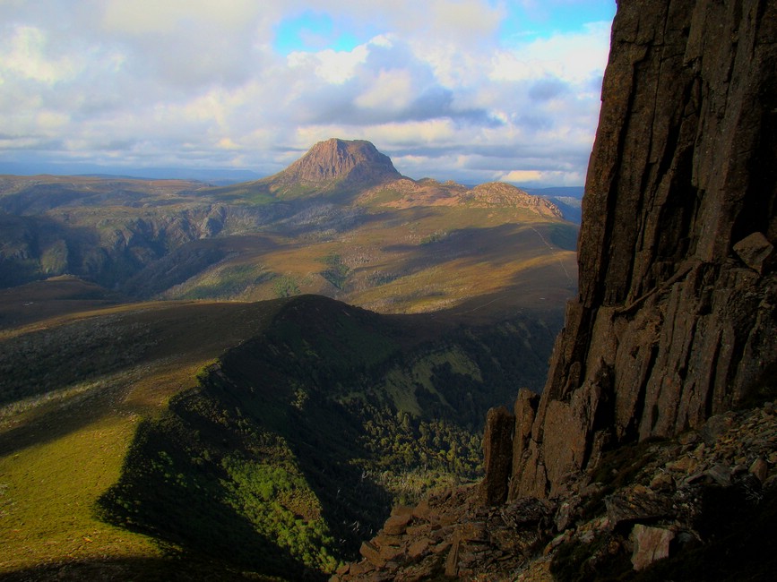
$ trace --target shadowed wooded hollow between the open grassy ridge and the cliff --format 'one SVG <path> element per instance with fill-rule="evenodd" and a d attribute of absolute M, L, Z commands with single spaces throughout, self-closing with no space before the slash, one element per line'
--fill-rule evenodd
<path fill-rule="evenodd" d="M 449 326 L 440 341 L 438 326 L 293 300 L 142 426 L 100 505 L 113 523 L 228 553 L 240 569 L 332 573 L 392 500 L 477 475 L 486 409 L 532 380 L 531 349 L 511 345 L 511 330 Z M 525 357 L 500 365 L 500 349 Z M 544 362 L 533 367 L 536 386 Z"/>

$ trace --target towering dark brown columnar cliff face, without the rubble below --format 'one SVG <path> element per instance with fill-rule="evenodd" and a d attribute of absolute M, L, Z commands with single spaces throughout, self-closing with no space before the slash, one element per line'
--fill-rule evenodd
<path fill-rule="evenodd" d="M 516 402 L 510 499 L 773 388 L 775 244 L 777 4 L 622 0 L 579 296 L 540 402 Z"/>

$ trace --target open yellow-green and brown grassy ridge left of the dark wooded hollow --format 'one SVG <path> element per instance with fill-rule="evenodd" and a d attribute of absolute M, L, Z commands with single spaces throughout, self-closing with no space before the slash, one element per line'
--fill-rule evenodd
<path fill-rule="evenodd" d="M 117 481 L 140 419 L 159 414 L 172 394 L 192 385 L 204 364 L 261 328 L 276 308 L 143 304 L 34 324 L 37 333 L 67 341 L 89 329 L 79 327 L 85 319 L 119 315 L 120 328 L 148 331 L 159 341 L 156 349 L 117 364 L 108 375 L 84 371 L 83 381 L 45 394 L 34 389 L 38 393 L 21 410 L 6 404 L 0 421 L 0 572 L 103 556 L 158 557 L 149 538 L 95 518 L 95 501 Z M 25 331 L 31 330 L 6 332 L 0 341 Z M 41 362 L 50 362 L 52 354 L 40 349 Z M 85 364 L 88 359 L 58 363 L 63 370 Z"/>

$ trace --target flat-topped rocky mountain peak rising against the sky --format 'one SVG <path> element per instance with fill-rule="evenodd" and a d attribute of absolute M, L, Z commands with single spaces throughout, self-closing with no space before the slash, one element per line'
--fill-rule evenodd
<path fill-rule="evenodd" d="M 316 143 L 278 177 L 307 186 L 361 186 L 396 180 L 401 174 L 371 142 L 332 138 Z"/>

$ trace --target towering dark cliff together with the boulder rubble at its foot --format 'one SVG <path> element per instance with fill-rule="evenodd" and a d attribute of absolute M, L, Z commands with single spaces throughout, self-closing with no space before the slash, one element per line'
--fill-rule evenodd
<path fill-rule="evenodd" d="M 512 456 L 489 414 L 486 479 L 433 504 L 434 555 L 335 579 L 773 578 L 775 41 L 773 2 L 618 3 L 545 390 L 519 392 Z"/>

